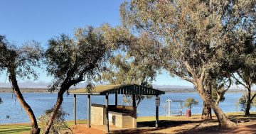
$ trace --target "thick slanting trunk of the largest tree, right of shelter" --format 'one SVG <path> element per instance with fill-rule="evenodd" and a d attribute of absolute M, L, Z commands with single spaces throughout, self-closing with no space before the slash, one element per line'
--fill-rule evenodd
<path fill-rule="evenodd" d="M 220 109 L 220 107 L 215 104 L 215 101 L 213 101 L 213 99 L 211 97 L 211 94 L 208 94 L 208 92 L 203 89 L 203 82 L 201 82 L 201 81 L 202 81 L 201 79 L 198 79 L 198 82 L 197 82 L 197 88 L 196 89 L 198 90 L 198 94 L 201 96 L 203 101 L 206 101 L 206 104 L 209 104 L 210 108 L 213 109 L 216 117 L 218 118 L 220 128 L 233 128 L 233 127 L 235 127 L 236 126 L 235 123 L 230 121 L 225 116 L 225 114 Z"/>

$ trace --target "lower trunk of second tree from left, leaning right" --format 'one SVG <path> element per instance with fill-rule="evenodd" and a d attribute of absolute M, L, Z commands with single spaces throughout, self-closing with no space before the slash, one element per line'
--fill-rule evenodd
<path fill-rule="evenodd" d="M 50 115 L 50 120 L 47 123 L 46 130 L 44 132 L 45 134 L 50 133 L 50 127 L 53 125 L 53 121 L 58 113 L 58 110 L 60 109 L 62 102 L 63 102 L 64 92 L 65 92 L 65 90 L 63 90 L 63 89 L 60 89 L 60 91 L 58 92 L 58 98 L 57 98 L 56 104 L 54 106 L 53 113 Z"/>

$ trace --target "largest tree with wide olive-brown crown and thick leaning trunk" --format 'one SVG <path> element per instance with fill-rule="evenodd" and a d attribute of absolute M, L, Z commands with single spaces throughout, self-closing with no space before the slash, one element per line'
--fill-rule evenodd
<path fill-rule="evenodd" d="M 121 6 L 122 23 L 161 42 L 163 66 L 191 82 L 213 109 L 222 128 L 230 121 L 205 89 L 210 69 L 222 67 L 227 55 L 244 47 L 242 26 L 255 23 L 255 1 L 132 0 Z"/>

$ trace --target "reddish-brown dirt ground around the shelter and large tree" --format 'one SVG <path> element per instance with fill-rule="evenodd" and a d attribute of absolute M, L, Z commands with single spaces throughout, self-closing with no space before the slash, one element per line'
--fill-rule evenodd
<path fill-rule="evenodd" d="M 204 133 L 241 133 L 241 134 L 256 134 L 256 115 L 252 115 L 249 118 L 236 118 L 230 117 L 232 121 L 238 124 L 235 128 L 230 129 L 220 129 L 218 127 L 218 122 L 214 117 L 212 120 L 203 121 L 199 116 L 193 118 L 186 117 L 178 117 L 178 118 L 166 118 L 161 119 L 159 121 L 159 128 L 154 128 L 154 121 L 142 121 L 138 122 L 138 126 L 140 128 L 133 129 L 123 129 L 123 130 L 111 130 L 110 133 L 154 133 L 154 134 L 162 134 L 162 133 L 196 133 L 196 134 L 204 134 Z M 73 133 L 82 134 L 82 133 L 92 133 L 92 134 L 102 134 L 105 133 L 103 130 L 99 130 L 96 128 L 87 128 L 86 125 L 73 125 L 71 127 Z"/>

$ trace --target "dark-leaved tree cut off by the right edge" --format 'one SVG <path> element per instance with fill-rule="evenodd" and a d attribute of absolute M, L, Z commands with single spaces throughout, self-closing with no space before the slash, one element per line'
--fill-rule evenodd
<path fill-rule="evenodd" d="M 255 1 L 254 1 L 255 2 Z M 250 114 L 250 105 L 253 99 L 255 99 L 256 94 L 252 94 L 252 86 L 256 84 L 256 9 L 255 3 L 251 6 L 252 13 L 246 13 L 247 17 L 244 18 L 240 30 L 247 31 L 242 33 L 243 41 L 245 42 L 245 48 L 242 49 L 241 55 L 239 57 L 240 69 L 238 69 L 233 78 L 236 84 L 244 86 L 246 91 L 246 108 L 245 115 Z M 250 9 L 250 8 L 249 8 Z M 249 23 L 248 23 L 249 22 Z"/>

